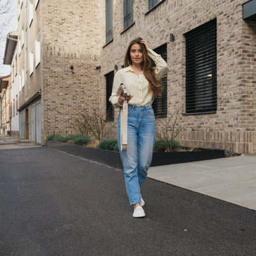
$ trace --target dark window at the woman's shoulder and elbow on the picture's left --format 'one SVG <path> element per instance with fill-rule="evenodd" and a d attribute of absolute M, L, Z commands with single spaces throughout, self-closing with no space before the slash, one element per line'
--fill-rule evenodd
<path fill-rule="evenodd" d="M 109 102 L 109 97 L 112 93 L 112 86 L 114 80 L 114 71 L 109 72 L 105 75 L 106 77 L 106 120 L 114 121 L 115 119 L 115 110 L 111 102 Z"/>

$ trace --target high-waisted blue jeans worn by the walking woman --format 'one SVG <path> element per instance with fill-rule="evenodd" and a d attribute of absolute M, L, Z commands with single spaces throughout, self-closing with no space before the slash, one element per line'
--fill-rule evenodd
<path fill-rule="evenodd" d="M 141 203 L 140 186 L 147 177 L 156 137 L 156 119 L 151 105 L 128 105 L 127 151 L 120 151 L 127 195 L 131 205 Z M 120 150 L 120 113 L 117 125 Z"/>

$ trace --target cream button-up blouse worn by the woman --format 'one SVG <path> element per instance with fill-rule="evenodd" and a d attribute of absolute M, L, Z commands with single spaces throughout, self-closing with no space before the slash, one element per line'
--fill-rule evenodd
<path fill-rule="evenodd" d="M 157 79 L 161 79 L 161 77 L 170 71 L 170 68 L 168 68 L 167 63 L 163 60 L 161 55 L 152 51 L 152 49 L 148 49 L 148 56 L 150 56 L 156 64 Z M 115 74 L 112 94 L 109 97 L 109 101 L 115 108 L 121 106 L 118 103 L 119 95 L 116 94 L 121 83 L 125 84 L 128 92 L 133 96 L 132 99 L 129 100 L 129 105 L 145 106 L 152 104 L 152 92 L 148 91 L 148 81 L 143 72 L 137 75 L 132 67 L 129 66 L 118 70 Z"/>

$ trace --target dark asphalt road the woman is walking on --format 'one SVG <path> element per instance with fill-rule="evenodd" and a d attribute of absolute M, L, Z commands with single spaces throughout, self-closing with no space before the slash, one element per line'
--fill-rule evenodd
<path fill-rule="evenodd" d="M 0 256 L 256 255 L 256 212 L 47 147 L 0 150 Z"/>

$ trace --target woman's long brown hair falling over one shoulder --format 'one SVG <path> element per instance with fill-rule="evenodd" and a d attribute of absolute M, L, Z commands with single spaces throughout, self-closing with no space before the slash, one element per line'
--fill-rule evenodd
<path fill-rule="evenodd" d="M 143 53 L 143 62 L 141 63 L 141 68 L 143 70 L 143 74 L 146 77 L 148 81 L 148 90 L 153 93 L 153 99 L 156 99 L 157 96 L 162 95 L 162 86 L 160 82 L 156 79 L 155 76 L 155 68 L 152 67 L 151 58 L 147 54 L 147 49 L 143 43 L 141 43 L 142 38 L 138 37 L 131 41 L 131 43 L 128 46 L 127 52 L 125 54 L 124 58 L 124 67 L 128 67 L 129 65 L 132 65 L 131 60 L 131 47 L 134 44 L 139 44 Z"/>

